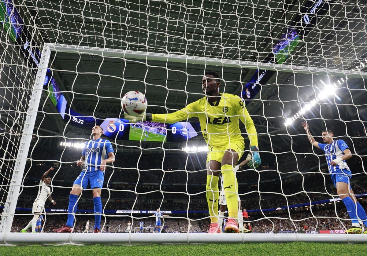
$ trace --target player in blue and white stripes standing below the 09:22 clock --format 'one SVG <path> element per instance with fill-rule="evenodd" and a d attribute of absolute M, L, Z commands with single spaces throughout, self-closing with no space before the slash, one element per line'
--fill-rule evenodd
<path fill-rule="evenodd" d="M 69 196 L 68 222 L 62 228 L 54 229 L 54 232 L 70 233 L 74 226 L 74 216 L 78 207 L 77 201 L 82 189 L 88 186 L 92 188 L 94 202 L 94 232 L 100 233 L 101 225 L 101 188 L 106 170 L 106 165 L 115 161 L 113 147 L 107 139 L 102 139 L 103 129 L 99 125 L 92 128 L 93 139 L 87 141 L 81 153 L 81 158 L 76 165 L 82 167 L 82 171 L 76 178 Z"/>

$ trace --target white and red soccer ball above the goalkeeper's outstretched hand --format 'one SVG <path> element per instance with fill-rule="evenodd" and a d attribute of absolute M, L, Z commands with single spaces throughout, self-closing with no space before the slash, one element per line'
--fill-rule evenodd
<path fill-rule="evenodd" d="M 148 101 L 141 92 L 130 91 L 122 97 L 121 106 L 129 116 L 141 116 L 148 106 Z"/>

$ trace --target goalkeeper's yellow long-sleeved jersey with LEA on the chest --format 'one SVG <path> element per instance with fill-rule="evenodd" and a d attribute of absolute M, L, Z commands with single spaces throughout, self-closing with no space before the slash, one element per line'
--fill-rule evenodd
<path fill-rule="evenodd" d="M 204 97 L 171 114 L 152 114 L 152 121 L 173 124 L 198 117 L 208 146 L 218 147 L 228 144 L 230 140 L 241 140 L 244 143 L 239 128 L 241 120 L 246 127 L 251 146 L 258 146 L 255 125 L 243 100 L 233 94 L 225 93 L 220 96 L 217 102 L 209 102 Z"/>

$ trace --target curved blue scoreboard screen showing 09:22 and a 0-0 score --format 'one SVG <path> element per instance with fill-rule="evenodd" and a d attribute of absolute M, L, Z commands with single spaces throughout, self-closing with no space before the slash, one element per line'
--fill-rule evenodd
<path fill-rule="evenodd" d="M 103 135 L 117 140 L 142 140 L 157 142 L 184 142 L 198 135 L 199 123 L 176 122 L 163 124 L 160 122 L 139 122 L 129 124 L 123 118 L 94 118 L 84 116 L 74 111 L 64 95 L 60 92 L 58 84 L 50 69 L 47 70 L 44 80 L 44 88 L 48 91 L 48 98 L 66 122 L 83 129 L 92 129 L 99 125 L 103 129 Z"/>

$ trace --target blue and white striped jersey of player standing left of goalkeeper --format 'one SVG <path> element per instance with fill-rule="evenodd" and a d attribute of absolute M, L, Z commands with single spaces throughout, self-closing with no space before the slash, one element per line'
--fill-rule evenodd
<path fill-rule="evenodd" d="M 108 153 L 113 152 L 112 144 L 107 139 L 99 138 L 86 141 L 82 156 L 85 156 L 83 171 L 99 171 L 101 162 L 108 158 Z"/>

